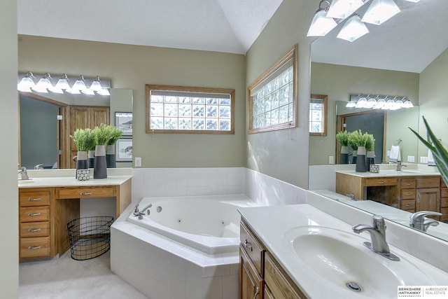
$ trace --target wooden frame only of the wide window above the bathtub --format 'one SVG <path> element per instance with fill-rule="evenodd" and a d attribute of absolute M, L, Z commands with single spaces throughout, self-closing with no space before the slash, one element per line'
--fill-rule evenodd
<path fill-rule="evenodd" d="M 151 90 L 174 91 L 174 92 L 201 92 L 221 93 L 230 95 L 230 130 L 153 130 L 151 129 Z M 199 88 L 176 85 L 145 85 L 146 95 L 146 133 L 171 133 L 171 134 L 235 134 L 235 89 L 230 88 Z M 165 116 L 164 116 L 165 117 Z"/>

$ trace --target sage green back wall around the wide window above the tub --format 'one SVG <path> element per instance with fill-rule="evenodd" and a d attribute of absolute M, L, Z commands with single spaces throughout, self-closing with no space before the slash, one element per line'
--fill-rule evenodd
<path fill-rule="evenodd" d="M 20 36 L 19 71 L 111 78 L 132 89 L 134 157 L 142 167 L 243 167 L 246 57 L 116 43 Z M 235 134 L 146 134 L 145 84 L 235 89 Z"/>

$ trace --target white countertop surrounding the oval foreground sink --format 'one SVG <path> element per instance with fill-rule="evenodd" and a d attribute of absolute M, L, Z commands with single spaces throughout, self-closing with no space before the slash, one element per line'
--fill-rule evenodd
<path fill-rule="evenodd" d="M 295 257 L 293 254 L 290 254 L 283 245 L 283 235 L 292 228 L 305 225 L 323 226 L 353 233 L 351 225 L 325 214 L 323 211 L 311 207 L 309 204 L 239 208 L 239 212 L 253 232 L 255 232 L 264 243 L 267 250 L 272 253 L 272 256 L 276 258 L 283 269 L 308 298 L 339 298 L 337 294 L 334 293 L 335 290 L 322 289 L 315 281 L 313 281 L 314 279 L 310 278 L 311 276 L 307 272 L 304 272 L 297 267 Z M 367 233 L 358 236 L 365 238 L 366 241 L 370 241 L 370 237 Z M 359 244 L 359 246 L 363 247 L 363 244 Z M 446 272 L 443 272 L 418 258 L 414 258 L 408 253 L 393 246 L 391 246 L 391 251 L 400 256 L 400 258 L 412 260 L 412 263 L 414 263 L 416 267 L 419 267 L 423 272 L 428 273 L 435 284 L 448 284 L 448 274 Z M 383 258 L 381 256 L 379 257 Z M 346 297 L 345 299 L 349 298 L 359 298 L 359 294 L 353 293 L 352 297 Z"/>

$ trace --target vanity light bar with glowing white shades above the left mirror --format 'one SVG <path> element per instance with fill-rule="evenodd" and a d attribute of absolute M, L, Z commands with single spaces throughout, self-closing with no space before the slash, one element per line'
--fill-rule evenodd
<path fill-rule="evenodd" d="M 81 86 L 81 88 L 79 89 L 77 86 Z M 95 93 L 97 95 L 110 95 L 109 88 L 111 88 L 111 79 L 101 78 L 100 80 L 99 76 L 86 78 L 83 75 L 67 76 L 62 74 L 52 78 L 48 73 L 34 75 L 31 71 L 26 74 L 18 74 L 18 90 L 21 92 L 48 93 L 50 91 L 73 95 L 82 92 L 84 95 L 95 95 Z"/>

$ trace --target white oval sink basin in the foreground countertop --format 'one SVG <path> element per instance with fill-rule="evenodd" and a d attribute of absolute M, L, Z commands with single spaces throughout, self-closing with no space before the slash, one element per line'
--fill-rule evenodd
<path fill-rule="evenodd" d="M 291 262 L 308 274 L 309 289 L 330 291 L 332 298 L 396 298 L 397 286 L 434 284 L 400 254 L 400 261 L 388 260 L 363 246 L 364 241 L 354 233 L 318 226 L 283 235 Z"/>

